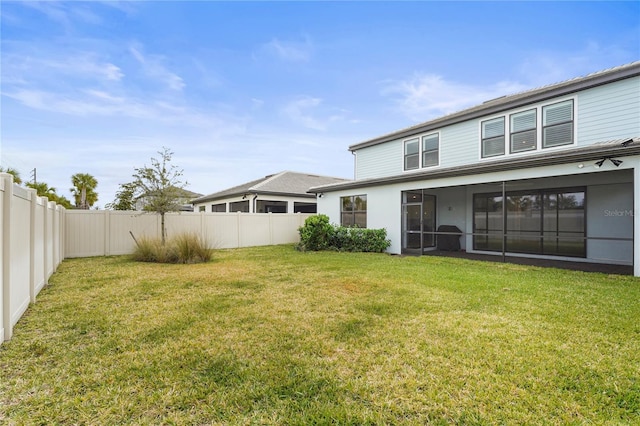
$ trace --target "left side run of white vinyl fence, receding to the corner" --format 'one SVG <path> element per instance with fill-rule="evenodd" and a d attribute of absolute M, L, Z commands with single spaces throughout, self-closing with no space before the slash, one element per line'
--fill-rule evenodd
<path fill-rule="evenodd" d="M 0 173 L 0 343 L 62 261 L 65 212 Z"/>

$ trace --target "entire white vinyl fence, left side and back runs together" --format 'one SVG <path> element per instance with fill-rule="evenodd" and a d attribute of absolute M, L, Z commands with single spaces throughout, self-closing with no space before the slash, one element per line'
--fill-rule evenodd
<path fill-rule="evenodd" d="M 212 248 L 294 243 L 310 214 L 167 214 L 168 237 L 202 235 Z M 131 237 L 160 237 L 160 216 L 108 210 L 67 210 L 0 173 L 0 344 L 67 257 L 129 254 Z"/>

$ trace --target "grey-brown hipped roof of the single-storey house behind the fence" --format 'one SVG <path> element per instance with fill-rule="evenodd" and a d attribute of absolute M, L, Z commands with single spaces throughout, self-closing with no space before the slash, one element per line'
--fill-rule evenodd
<path fill-rule="evenodd" d="M 196 198 L 193 203 L 203 203 L 244 194 L 289 195 L 313 198 L 314 196 L 308 192 L 309 188 L 347 181 L 347 179 L 330 176 L 284 171 Z"/>

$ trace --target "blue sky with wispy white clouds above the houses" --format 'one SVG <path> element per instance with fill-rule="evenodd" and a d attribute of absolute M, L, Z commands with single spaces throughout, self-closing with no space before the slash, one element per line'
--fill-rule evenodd
<path fill-rule="evenodd" d="M 0 165 L 98 206 L 158 151 L 209 194 L 640 59 L 638 2 L 9 2 Z"/>

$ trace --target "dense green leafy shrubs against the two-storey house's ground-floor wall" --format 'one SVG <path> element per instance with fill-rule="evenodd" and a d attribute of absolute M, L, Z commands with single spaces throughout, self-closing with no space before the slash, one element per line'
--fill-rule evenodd
<path fill-rule="evenodd" d="M 391 245 L 386 229 L 335 226 L 326 215 L 308 217 L 298 231 L 300 250 L 382 253 Z"/>

